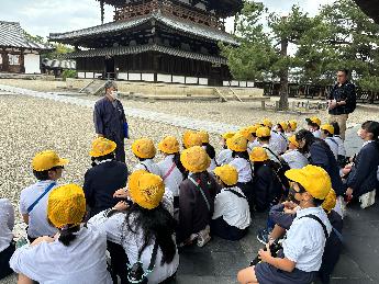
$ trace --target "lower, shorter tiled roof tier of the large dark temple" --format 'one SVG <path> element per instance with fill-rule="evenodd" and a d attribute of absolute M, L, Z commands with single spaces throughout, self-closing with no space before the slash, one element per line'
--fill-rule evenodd
<path fill-rule="evenodd" d="M 209 61 L 212 64 L 226 64 L 226 59 L 219 56 L 211 56 L 204 54 L 198 54 L 192 52 L 186 52 L 176 49 L 172 47 L 160 46 L 160 45 L 138 45 L 138 46 L 119 46 L 109 48 L 98 48 L 89 50 L 74 52 L 62 56 L 64 59 L 75 59 L 80 57 L 98 57 L 98 56 L 115 56 L 115 55 L 129 55 L 129 54 L 141 54 L 146 52 L 158 52 L 178 57 L 190 58 L 194 60 Z"/>

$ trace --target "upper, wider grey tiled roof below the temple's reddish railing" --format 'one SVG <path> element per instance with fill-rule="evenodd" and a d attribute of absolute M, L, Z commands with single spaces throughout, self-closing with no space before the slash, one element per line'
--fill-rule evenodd
<path fill-rule="evenodd" d="M 131 19 L 130 21 L 119 21 L 119 22 L 97 25 L 97 26 L 78 30 L 74 32 L 68 32 L 68 33 L 58 33 L 58 34 L 52 33 L 49 34 L 49 39 L 52 42 L 68 43 L 69 41 L 79 39 L 82 37 L 90 37 L 90 36 L 96 36 L 96 35 L 101 35 L 101 34 L 111 34 L 114 32 L 129 30 L 131 27 L 138 26 L 143 23 L 146 23 L 147 21 L 151 21 L 151 20 L 156 20 L 174 30 L 192 34 L 199 37 L 205 37 L 212 41 L 224 42 L 224 43 L 234 44 L 234 45 L 238 44 L 236 39 L 228 33 L 225 33 L 223 31 L 215 30 L 212 27 L 193 24 L 185 20 L 180 20 L 179 18 L 174 19 L 170 16 L 164 15 L 161 13 L 152 13 L 149 15 L 145 15 L 142 18 Z"/>

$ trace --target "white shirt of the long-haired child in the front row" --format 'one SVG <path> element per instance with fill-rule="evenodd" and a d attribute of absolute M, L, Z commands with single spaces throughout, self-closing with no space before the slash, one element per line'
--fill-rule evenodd
<path fill-rule="evenodd" d="M 174 213 L 174 203 L 171 196 L 169 196 L 169 192 L 165 192 L 164 200 L 168 196 L 170 200 L 166 200 L 163 203 L 163 206 L 168 209 L 170 214 Z M 130 216 L 130 224 L 133 223 L 133 219 L 135 218 L 135 215 Z M 107 234 L 107 239 L 121 245 L 125 253 L 127 255 L 127 259 L 133 265 L 138 260 L 138 251 L 143 246 L 144 242 L 144 232 L 140 228 L 138 230 L 135 230 L 133 228 L 130 230 L 127 226 L 124 224 L 125 220 L 125 214 L 113 214 L 111 217 L 105 217 L 105 212 L 100 212 L 98 215 L 94 215 L 92 218 L 89 219 L 88 225 L 91 227 L 98 227 L 100 230 L 104 231 Z M 175 235 L 172 235 L 172 240 L 175 242 Z M 152 259 L 152 253 L 154 249 L 154 242 L 148 245 L 141 255 L 141 262 L 143 263 L 143 268 L 146 271 Z M 160 261 L 163 258 L 163 253 L 160 248 L 158 248 L 157 257 L 155 260 L 155 266 L 152 273 L 147 275 L 148 283 L 160 283 L 171 276 L 179 266 L 179 254 L 178 250 L 176 250 L 176 254 L 174 257 L 174 260 L 170 263 L 164 263 L 161 265 Z"/>

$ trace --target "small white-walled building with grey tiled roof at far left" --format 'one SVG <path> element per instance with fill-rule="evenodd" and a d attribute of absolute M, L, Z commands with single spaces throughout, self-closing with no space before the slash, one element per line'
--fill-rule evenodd
<path fill-rule="evenodd" d="M 27 39 L 20 23 L 0 21 L 0 72 L 41 73 L 40 54 L 52 49 Z"/>

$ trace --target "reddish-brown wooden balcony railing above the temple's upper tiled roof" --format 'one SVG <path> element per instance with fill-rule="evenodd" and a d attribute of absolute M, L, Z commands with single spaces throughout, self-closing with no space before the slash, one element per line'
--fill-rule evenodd
<path fill-rule="evenodd" d="M 125 21 L 136 16 L 143 16 L 153 12 L 160 11 L 163 14 L 180 18 L 189 22 L 201 25 L 207 25 L 218 30 L 225 31 L 224 22 L 209 12 L 201 12 L 199 10 L 191 10 L 171 1 L 152 0 L 143 4 L 127 4 L 115 10 L 113 20 Z"/>

